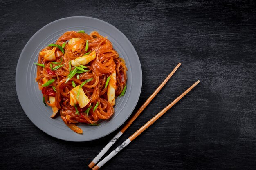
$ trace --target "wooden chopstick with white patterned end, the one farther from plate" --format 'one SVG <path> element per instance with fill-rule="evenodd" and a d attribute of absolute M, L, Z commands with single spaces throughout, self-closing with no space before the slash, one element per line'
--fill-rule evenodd
<path fill-rule="evenodd" d="M 96 166 L 94 166 L 93 170 L 98 170 L 101 166 L 103 166 L 106 162 L 108 162 L 112 157 L 117 155 L 117 153 L 126 147 L 131 141 L 133 141 L 137 136 L 139 136 L 144 130 L 146 130 L 150 125 L 152 125 L 159 117 L 164 115 L 167 110 L 169 110 L 173 105 L 175 105 L 184 95 L 189 93 L 200 81 L 195 82 L 191 87 L 189 87 L 186 91 L 184 91 L 179 97 L 177 97 L 173 102 L 171 102 L 166 108 L 160 111 L 157 115 L 155 115 L 150 121 L 148 121 L 144 126 L 139 128 L 134 134 L 132 134 L 128 139 L 126 139 L 121 145 L 119 145 L 115 150 L 113 150 L 108 156 L 106 156 L 102 161 L 100 161 Z"/>

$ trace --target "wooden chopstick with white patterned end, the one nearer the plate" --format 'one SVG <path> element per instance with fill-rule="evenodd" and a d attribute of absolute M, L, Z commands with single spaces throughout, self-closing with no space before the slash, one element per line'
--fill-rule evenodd
<path fill-rule="evenodd" d="M 115 135 L 110 142 L 99 152 L 99 154 L 92 160 L 92 162 L 88 165 L 90 168 L 94 167 L 95 163 L 101 159 L 101 157 L 109 150 L 109 148 L 117 141 L 117 139 L 126 131 L 126 129 L 132 124 L 133 121 L 141 114 L 141 112 L 148 106 L 148 104 L 154 99 L 154 97 L 157 95 L 157 93 L 163 88 L 163 86 L 168 82 L 168 80 L 172 77 L 172 75 L 177 71 L 177 69 L 180 67 L 181 63 L 179 63 L 173 71 L 166 77 L 166 79 L 160 84 L 160 86 L 148 97 L 146 102 L 142 104 L 142 106 L 139 108 L 139 110 L 135 113 L 135 115 L 126 123 L 126 125 Z"/>

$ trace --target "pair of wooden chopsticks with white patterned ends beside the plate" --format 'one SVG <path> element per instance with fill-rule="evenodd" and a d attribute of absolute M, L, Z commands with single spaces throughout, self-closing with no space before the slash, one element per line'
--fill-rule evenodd
<path fill-rule="evenodd" d="M 115 137 L 101 150 L 101 152 L 95 157 L 92 162 L 88 165 L 92 168 L 95 163 L 101 159 L 101 157 L 108 151 L 108 149 L 117 141 L 117 139 L 124 133 L 124 131 L 132 124 L 132 122 L 139 116 L 139 114 L 146 108 L 146 106 L 151 102 L 151 100 L 157 95 L 157 93 L 162 89 L 162 87 L 166 84 L 166 82 L 171 78 L 171 76 L 175 73 L 175 71 L 180 67 L 181 63 L 179 63 L 173 71 L 166 77 L 164 82 L 154 91 L 152 95 L 146 100 L 146 102 L 139 108 L 139 110 L 135 113 L 135 115 L 127 122 L 127 124 L 120 130 L 120 132 L 115 135 Z M 179 97 L 177 97 L 171 104 L 166 106 L 162 111 L 160 111 L 157 115 L 155 115 L 150 121 L 148 121 L 144 126 L 139 128 L 134 134 L 132 134 L 126 141 L 124 141 L 120 146 L 118 146 L 114 151 L 112 151 L 108 156 L 106 156 L 102 161 L 100 161 L 96 166 L 94 166 L 93 170 L 98 170 L 101 166 L 103 166 L 107 161 L 109 161 L 112 157 L 114 157 L 120 150 L 122 150 L 125 146 L 127 146 L 131 141 L 133 141 L 137 136 L 139 136 L 144 130 L 146 130 L 151 124 L 153 124 L 159 117 L 164 115 L 167 110 L 169 110 L 173 105 L 175 105 L 184 95 L 189 93 L 200 81 L 195 82 L 191 87 L 189 87 L 184 93 L 182 93 Z"/>

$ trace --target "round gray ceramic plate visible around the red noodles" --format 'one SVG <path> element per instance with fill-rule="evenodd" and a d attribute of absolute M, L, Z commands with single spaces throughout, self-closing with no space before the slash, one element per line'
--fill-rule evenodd
<path fill-rule="evenodd" d="M 124 58 L 128 68 L 127 90 L 124 97 L 117 98 L 115 113 L 110 120 L 100 126 L 79 124 L 83 134 L 70 130 L 60 117 L 50 118 L 52 109 L 44 106 L 42 94 L 35 82 L 38 53 L 48 44 L 56 42 L 58 37 L 71 30 L 85 30 L 86 33 L 98 31 L 107 36 L 119 56 Z M 102 20 L 90 17 L 68 17 L 56 20 L 37 31 L 27 42 L 20 54 L 16 68 L 16 91 L 20 104 L 27 117 L 45 133 L 66 141 L 91 141 L 106 136 L 119 128 L 134 110 L 142 85 L 142 71 L 139 57 L 126 36 L 117 28 Z"/>

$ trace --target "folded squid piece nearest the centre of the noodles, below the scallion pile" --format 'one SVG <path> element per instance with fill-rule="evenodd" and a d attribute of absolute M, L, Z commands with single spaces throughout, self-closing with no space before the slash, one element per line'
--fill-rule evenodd
<path fill-rule="evenodd" d="M 80 85 L 76 86 L 70 91 L 70 105 L 74 106 L 75 104 L 78 103 L 80 108 L 84 108 L 90 102 L 90 99 L 85 95 L 83 88 L 80 88 L 80 91 L 79 91 L 79 88 L 80 88 Z M 78 91 L 79 91 L 79 96 L 77 99 Z"/>

